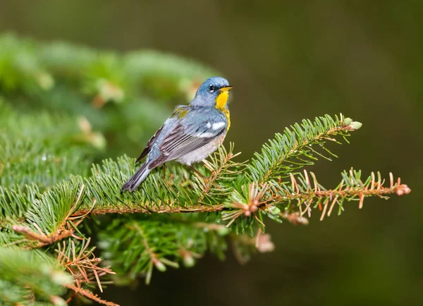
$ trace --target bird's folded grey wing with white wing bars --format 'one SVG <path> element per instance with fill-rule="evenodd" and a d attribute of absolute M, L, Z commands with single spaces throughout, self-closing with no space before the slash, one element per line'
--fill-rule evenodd
<path fill-rule="evenodd" d="M 226 122 L 204 120 L 189 125 L 179 123 L 161 142 L 161 157 L 153 161 L 150 167 L 158 166 L 166 161 L 183 157 L 195 149 L 207 145 L 217 136 L 225 133 Z"/>

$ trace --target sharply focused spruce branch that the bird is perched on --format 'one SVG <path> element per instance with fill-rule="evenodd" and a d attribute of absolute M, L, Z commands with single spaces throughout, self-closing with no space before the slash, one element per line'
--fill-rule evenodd
<path fill-rule="evenodd" d="M 298 135 L 295 134 L 297 136 L 293 137 L 289 144 L 285 143 L 282 149 L 278 149 L 276 142 L 271 141 L 273 145 L 268 146 L 269 150 L 274 152 L 278 149 L 281 152 L 288 152 L 289 154 L 286 154 L 286 157 L 290 158 L 293 156 L 293 147 L 295 147 L 300 150 L 300 152 L 297 150 L 295 153 L 295 157 L 298 157 L 307 154 L 310 141 L 313 143 L 319 142 L 321 138 L 327 139 L 328 135 L 357 128 L 357 123 L 348 118 L 343 119 L 342 122 L 339 121 L 339 126 L 335 125 L 334 127 L 336 121 L 329 120 L 327 116 L 322 118 L 326 118 L 327 124 L 319 125 L 319 122 L 323 122 L 323 119 L 317 119 L 314 123 L 314 131 L 319 132 L 317 135 L 309 132 L 314 136 L 307 137 L 309 133 L 304 133 L 301 135 L 303 141 L 297 142 L 295 137 L 298 137 Z M 307 127 L 309 131 L 313 130 L 309 128 L 310 123 L 308 121 L 305 121 L 303 126 L 295 126 L 297 133 L 307 130 Z M 346 134 L 343 133 L 343 135 Z M 302 145 L 299 146 L 298 143 Z M 172 175 L 168 178 L 161 178 L 161 176 L 153 173 L 147 178 L 140 190 L 123 195 L 119 186 L 134 171 L 132 159 L 123 157 L 118 159 L 117 162 L 106 160 L 102 166 L 93 166 L 90 178 L 73 176 L 71 180 L 59 183 L 48 192 L 42 194 L 32 192 L 32 194 L 35 194 L 35 198 L 33 198 L 34 196 L 31 197 L 32 202 L 28 203 L 30 207 L 25 214 L 27 225 L 15 224 L 13 229 L 36 238 L 41 245 L 45 245 L 46 243 L 54 243 L 68 235 L 73 235 L 76 228 L 73 220 L 80 216 L 109 213 L 223 212 L 222 220 L 227 221 L 228 226 L 231 226 L 240 216 L 245 217 L 241 218 L 240 221 L 244 222 L 245 219 L 246 224 L 237 222 L 235 229 L 238 231 L 239 227 L 243 232 L 244 228 L 250 228 L 252 233 L 254 223 L 264 228 L 263 214 L 280 221 L 277 206 L 294 200 L 299 203 L 298 209 L 301 217 L 304 212 L 309 211 L 310 206 L 316 201 L 318 206 L 323 204 L 324 209 L 327 209 L 325 201 L 328 195 L 331 198 L 333 209 L 333 205 L 338 202 L 341 203 L 340 200 L 345 200 L 345 198 L 351 200 L 353 197 L 360 197 L 362 203 L 364 197 L 370 195 L 381 196 L 395 190 L 398 190 L 398 194 L 400 192 L 407 193 L 407 188 L 400 184 L 391 186 L 391 188 L 379 188 L 375 191 L 372 186 L 378 184 L 378 182 L 374 179 L 367 179 L 367 185 L 359 183 L 355 188 L 343 189 L 342 192 L 337 191 L 337 188 L 328 191 L 321 188 L 317 183 L 314 173 L 310 173 L 310 176 L 312 176 L 312 180 L 310 180 L 307 172 L 305 172 L 304 177 L 298 176 L 298 174 L 294 175 L 292 172 L 289 173 L 290 186 L 283 183 L 281 178 L 277 183 L 274 180 L 268 180 L 266 183 L 263 183 L 262 180 L 257 180 L 255 183 L 245 183 L 244 180 L 239 179 L 242 178 L 243 164 L 233 161 L 233 157 L 236 155 L 233 154 L 233 145 L 228 152 L 220 147 L 211 161 L 206 161 L 202 166 L 201 171 L 203 173 L 206 171 L 211 173 L 209 178 L 204 179 L 196 174 L 189 176 L 183 166 L 173 165 L 171 166 Z M 283 159 L 283 161 L 285 160 Z M 275 165 L 276 167 L 280 166 L 276 161 L 278 163 L 279 159 L 275 159 L 275 163 L 269 164 L 267 169 L 259 166 L 257 166 L 257 169 L 260 169 L 262 173 L 274 173 Z M 252 169 L 252 164 L 247 165 L 247 169 Z M 360 173 L 354 172 L 351 174 L 353 177 L 351 180 L 361 182 L 360 175 Z M 343 182 L 348 185 L 345 179 Z M 373 185 L 369 186 L 368 184 L 372 182 Z M 312 183 L 314 183 L 314 187 L 312 187 Z M 381 182 L 379 182 L 379 186 L 380 184 Z M 30 187 L 27 188 L 31 190 Z M 12 202 L 12 205 L 10 202 Z M 8 197 L 7 202 L 0 201 L 0 204 L 3 204 L 4 207 L 14 207 L 13 202 L 20 202 L 20 197 Z M 302 204 L 305 204 L 305 211 L 302 210 Z M 341 206 L 341 204 L 339 205 Z M 56 211 L 52 212 L 51 207 L 56 207 Z M 282 208 L 286 210 L 286 207 Z M 332 209 L 329 208 L 329 214 Z"/>

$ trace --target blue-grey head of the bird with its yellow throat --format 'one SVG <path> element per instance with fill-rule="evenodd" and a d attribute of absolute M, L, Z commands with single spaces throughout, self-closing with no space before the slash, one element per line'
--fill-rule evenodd
<path fill-rule="evenodd" d="M 221 77 L 212 77 L 202 83 L 198 88 L 194 99 L 191 101 L 192 106 L 209 106 L 216 107 L 223 111 L 228 108 L 229 91 L 232 86 L 228 80 Z"/>

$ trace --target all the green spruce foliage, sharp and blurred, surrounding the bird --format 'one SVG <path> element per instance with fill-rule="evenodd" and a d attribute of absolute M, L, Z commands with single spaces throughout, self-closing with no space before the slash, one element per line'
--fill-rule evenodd
<path fill-rule="evenodd" d="M 269 220 L 307 224 L 313 210 L 324 219 L 341 214 L 345 201 L 361 208 L 365 197 L 410 192 L 391 173 L 384 183 L 380 173 L 351 169 L 326 189 L 302 169 L 336 157 L 326 144 L 348 142 L 361 127 L 325 115 L 277 133 L 251 161 L 239 162 L 233 144 L 219 147 L 196 166 L 202 176 L 170 163 L 122 194 L 136 169 L 135 159 L 118 153 L 135 156 L 166 118 L 166 104 L 185 103 L 212 74 L 156 51 L 0 37 L 4 305 L 72 298 L 114 305 L 92 293 L 108 279 L 125 285 L 144 275 L 149 283 L 154 269 L 192 267 L 206 252 L 224 259 L 229 243 L 244 262 L 273 249 L 264 233 Z"/>

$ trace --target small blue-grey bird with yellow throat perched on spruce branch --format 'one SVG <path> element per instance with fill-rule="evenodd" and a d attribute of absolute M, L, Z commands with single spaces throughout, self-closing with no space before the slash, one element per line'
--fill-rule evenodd
<path fill-rule="evenodd" d="M 149 173 L 168 161 L 189 166 L 216 151 L 231 127 L 230 91 L 233 87 L 222 77 L 205 80 L 188 105 L 178 105 L 163 126 L 150 138 L 135 164 L 135 174 L 122 185 L 121 192 L 133 192 Z"/>

